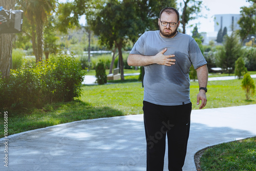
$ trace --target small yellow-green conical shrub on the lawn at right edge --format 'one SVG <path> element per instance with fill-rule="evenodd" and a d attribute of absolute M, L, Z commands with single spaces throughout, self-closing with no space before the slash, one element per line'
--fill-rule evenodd
<path fill-rule="evenodd" d="M 249 100 L 255 93 L 255 84 L 250 74 L 246 73 L 242 80 L 242 88 L 245 91 L 246 100 Z"/>

